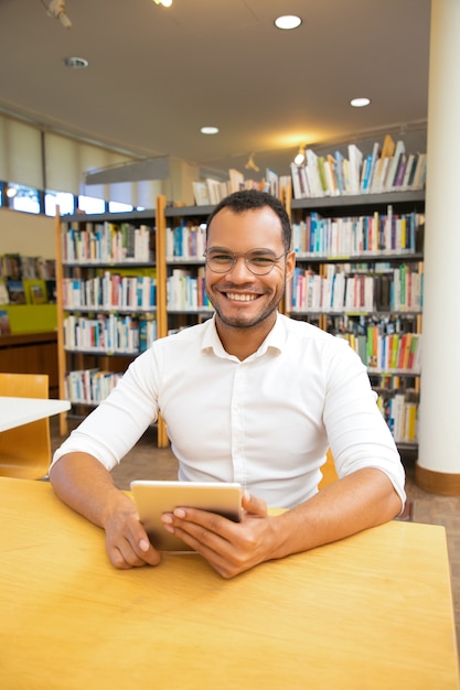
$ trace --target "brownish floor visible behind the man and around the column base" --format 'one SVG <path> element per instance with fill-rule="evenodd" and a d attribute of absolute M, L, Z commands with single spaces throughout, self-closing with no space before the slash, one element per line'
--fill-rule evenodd
<path fill-rule="evenodd" d="M 71 421 L 69 430 L 73 425 L 76 425 L 76 422 Z M 56 418 L 51 421 L 51 433 L 54 450 L 62 442 Z M 420 489 L 414 482 L 414 457 L 404 457 L 411 519 L 415 522 L 442 525 L 446 528 L 460 658 L 460 496 L 438 496 Z M 114 470 L 113 476 L 116 485 L 122 489 L 128 489 L 129 483 L 135 478 L 175 479 L 176 461 L 170 449 L 157 448 L 157 432 L 150 429 L 124 462 Z"/>

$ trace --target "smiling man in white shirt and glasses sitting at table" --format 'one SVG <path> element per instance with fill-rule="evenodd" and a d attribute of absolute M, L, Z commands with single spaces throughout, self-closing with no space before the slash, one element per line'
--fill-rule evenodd
<path fill-rule="evenodd" d="M 239 482 L 243 519 L 192 508 L 163 516 L 224 578 L 385 522 L 404 470 L 365 367 L 349 345 L 278 313 L 295 269 L 272 196 L 244 191 L 208 218 L 206 291 L 215 315 L 161 338 L 56 452 L 58 496 L 103 527 L 116 568 L 149 563 L 135 504 L 109 470 L 161 412 L 182 481 Z M 340 479 L 318 492 L 331 448 Z M 267 505 L 288 508 L 274 517 Z"/>

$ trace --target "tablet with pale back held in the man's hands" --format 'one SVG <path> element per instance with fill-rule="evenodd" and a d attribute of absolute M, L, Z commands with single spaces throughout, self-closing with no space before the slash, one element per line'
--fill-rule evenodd
<path fill-rule="evenodd" d="M 136 479 L 130 488 L 140 521 L 158 551 L 193 551 L 191 547 L 164 529 L 163 513 L 189 507 L 217 513 L 234 522 L 242 516 L 242 486 L 225 482 L 153 482 Z"/>

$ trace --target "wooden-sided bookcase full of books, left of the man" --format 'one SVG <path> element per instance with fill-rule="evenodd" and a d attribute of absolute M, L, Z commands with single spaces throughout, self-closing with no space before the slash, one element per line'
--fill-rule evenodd
<path fill-rule="evenodd" d="M 85 416 L 159 333 L 156 211 L 56 217 L 60 396 Z M 61 416 L 61 434 L 67 417 Z"/>

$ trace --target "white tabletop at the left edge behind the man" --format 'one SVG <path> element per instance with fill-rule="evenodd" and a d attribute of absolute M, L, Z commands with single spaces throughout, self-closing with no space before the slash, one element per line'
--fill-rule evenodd
<path fill-rule="evenodd" d="M 22 427 L 71 409 L 68 400 L 0 396 L 0 431 Z"/>

